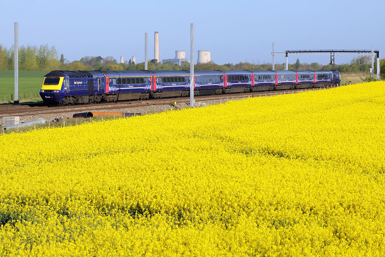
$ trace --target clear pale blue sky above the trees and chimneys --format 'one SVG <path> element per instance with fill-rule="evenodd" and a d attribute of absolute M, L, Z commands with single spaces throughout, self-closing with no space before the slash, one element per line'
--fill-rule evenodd
<path fill-rule="evenodd" d="M 119 62 L 144 61 L 144 32 L 149 59 L 154 58 L 154 32 L 159 31 L 161 59 L 186 50 L 190 59 L 190 23 L 197 50 L 211 50 L 217 64 L 271 62 L 276 51 L 293 49 L 371 49 L 385 57 L 385 3 L 374 1 L 9 1 L 2 2 L 0 44 L 13 45 L 13 22 L 19 45 L 54 45 L 65 59 L 86 55 L 113 56 Z M 371 6 L 365 4 L 372 4 Z M 16 8 L 16 10 L 15 10 Z M 15 10 L 15 11 L 14 11 Z M 336 56 L 336 64 L 355 56 Z M 297 57 L 289 57 L 294 63 Z M 329 56 L 299 57 L 327 64 Z M 284 57 L 276 57 L 283 63 Z"/>

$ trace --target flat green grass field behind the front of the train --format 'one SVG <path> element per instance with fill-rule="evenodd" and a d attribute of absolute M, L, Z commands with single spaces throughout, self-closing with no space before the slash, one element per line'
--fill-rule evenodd
<path fill-rule="evenodd" d="M 20 102 L 42 101 L 39 90 L 43 77 L 47 73 L 47 71 L 19 71 L 19 93 L 22 94 L 21 99 L 20 95 L 18 97 Z M 15 92 L 14 71 L 0 71 L 0 78 L 0 103 L 13 102 L 11 94 Z M 35 98 L 33 98 L 33 92 L 35 92 Z M 7 101 L 4 101 L 4 95 Z"/>

